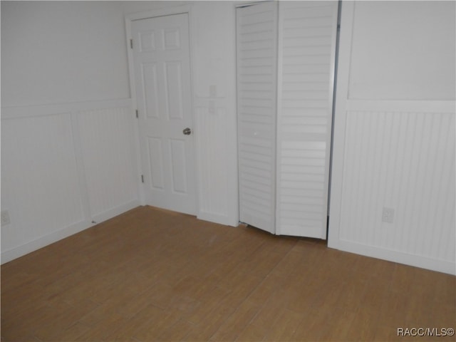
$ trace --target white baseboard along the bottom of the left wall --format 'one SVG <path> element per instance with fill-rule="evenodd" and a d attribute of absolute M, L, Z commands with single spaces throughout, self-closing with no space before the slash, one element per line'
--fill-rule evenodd
<path fill-rule="evenodd" d="M 94 215 L 93 218 L 84 219 L 81 222 L 76 222 L 75 224 L 71 224 L 70 226 L 60 229 L 56 232 L 52 232 L 51 234 L 47 234 L 43 237 L 38 237 L 38 239 L 34 239 L 31 242 L 27 242 L 26 244 L 21 244 L 18 247 L 14 247 L 7 251 L 1 252 L 1 264 L 5 264 L 11 260 L 17 259 L 19 257 L 23 257 L 24 255 L 34 252 L 37 249 L 41 249 L 43 247 L 48 246 L 49 244 L 53 244 L 54 242 L 58 242 L 61 239 L 65 239 L 66 237 L 70 237 L 73 234 L 78 232 L 82 232 L 85 229 L 93 227 L 95 224 L 92 221 L 95 221 L 96 224 L 101 223 L 107 219 L 111 219 L 119 214 L 123 214 L 130 209 L 138 207 L 140 202 L 138 199 L 134 199 L 131 202 L 122 204 L 118 207 L 110 209 L 106 212 L 102 212 L 100 214 Z"/>

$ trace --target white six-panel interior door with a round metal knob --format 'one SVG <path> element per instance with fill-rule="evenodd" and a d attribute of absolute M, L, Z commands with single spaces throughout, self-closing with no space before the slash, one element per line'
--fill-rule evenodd
<path fill-rule="evenodd" d="M 146 204 L 196 214 L 187 14 L 132 23 Z"/>

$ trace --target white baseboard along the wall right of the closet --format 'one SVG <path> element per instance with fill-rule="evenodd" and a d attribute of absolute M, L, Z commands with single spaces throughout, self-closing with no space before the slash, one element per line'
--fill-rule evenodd
<path fill-rule="evenodd" d="M 331 242 L 331 239 L 329 239 L 328 247 L 333 249 L 340 249 L 344 252 L 361 254 L 366 257 L 373 257 L 377 259 L 397 262 L 399 264 L 420 267 L 421 269 L 430 269 L 432 271 L 456 275 L 456 262 L 454 261 L 452 262 L 431 259 L 429 257 L 423 257 L 421 255 L 408 254 L 405 252 L 398 252 L 373 246 L 366 246 L 364 244 L 357 244 L 356 242 L 348 242 L 343 240 Z"/>

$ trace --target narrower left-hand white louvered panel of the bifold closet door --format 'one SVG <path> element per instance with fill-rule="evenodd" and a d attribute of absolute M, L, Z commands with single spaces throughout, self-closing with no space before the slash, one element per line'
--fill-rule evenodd
<path fill-rule="evenodd" d="M 277 4 L 237 9 L 239 219 L 275 233 Z"/>

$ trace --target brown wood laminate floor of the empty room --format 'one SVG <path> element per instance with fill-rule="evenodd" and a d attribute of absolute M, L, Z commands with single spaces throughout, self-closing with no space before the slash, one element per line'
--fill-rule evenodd
<path fill-rule="evenodd" d="M 1 266 L 2 341 L 455 341 L 456 278 L 152 207 Z"/>

